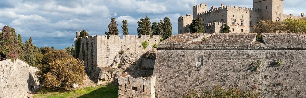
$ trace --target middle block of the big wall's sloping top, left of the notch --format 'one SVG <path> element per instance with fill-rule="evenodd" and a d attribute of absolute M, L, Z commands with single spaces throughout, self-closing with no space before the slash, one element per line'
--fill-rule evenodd
<path fill-rule="evenodd" d="M 257 34 L 215 34 L 208 37 L 202 44 L 252 44 Z"/>

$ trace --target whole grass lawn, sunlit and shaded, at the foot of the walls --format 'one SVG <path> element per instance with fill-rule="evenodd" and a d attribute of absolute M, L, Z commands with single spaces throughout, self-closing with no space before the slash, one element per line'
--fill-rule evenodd
<path fill-rule="evenodd" d="M 39 89 L 34 98 L 118 98 L 118 86 L 102 85 L 72 91 Z"/>

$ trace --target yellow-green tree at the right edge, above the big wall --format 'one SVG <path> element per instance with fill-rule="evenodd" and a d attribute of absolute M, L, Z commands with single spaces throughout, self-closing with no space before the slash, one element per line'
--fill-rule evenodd
<path fill-rule="evenodd" d="M 306 18 L 291 19 L 287 18 L 282 21 L 289 33 L 306 33 Z"/>

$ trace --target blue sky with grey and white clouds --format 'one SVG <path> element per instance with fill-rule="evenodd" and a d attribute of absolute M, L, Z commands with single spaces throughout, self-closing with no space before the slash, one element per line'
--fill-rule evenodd
<path fill-rule="evenodd" d="M 75 32 L 85 29 L 89 35 L 108 31 L 110 18 L 120 28 L 123 19 L 129 22 L 130 34 L 137 34 L 137 21 L 146 15 L 151 23 L 169 17 L 173 34 L 177 34 L 177 18 L 192 13 L 192 6 L 207 3 L 208 7 L 237 5 L 252 7 L 253 0 L 0 0 L 0 27 L 9 25 L 21 34 L 23 42 L 32 37 L 34 45 L 54 45 L 62 49 L 73 44 Z M 306 1 L 284 0 L 284 14 L 306 13 Z"/>

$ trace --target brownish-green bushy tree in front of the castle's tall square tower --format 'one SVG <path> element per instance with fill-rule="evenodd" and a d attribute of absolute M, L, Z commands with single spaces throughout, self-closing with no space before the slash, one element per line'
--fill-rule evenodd
<path fill-rule="evenodd" d="M 278 21 L 259 20 L 259 23 L 254 26 L 252 33 L 285 33 L 286 25 Z"/>

